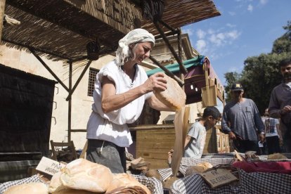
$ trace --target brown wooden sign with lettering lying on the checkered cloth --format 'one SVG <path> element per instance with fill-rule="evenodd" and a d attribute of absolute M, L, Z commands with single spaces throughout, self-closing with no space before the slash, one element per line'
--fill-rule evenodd
<path fill-rule="evenodd" d="M 226 183 L 238 180 L 238 178 L 231 174 L 227 169 L 214 169 L 209 172 L 200 173 L 200 175 L 205 179 L 205 181 L 207 181 L 211 188 L 223 186 Z"/>

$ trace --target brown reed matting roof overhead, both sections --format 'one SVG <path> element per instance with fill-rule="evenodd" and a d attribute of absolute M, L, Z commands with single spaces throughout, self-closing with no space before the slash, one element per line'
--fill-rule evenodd
<path fill-rule="evenodd" d="M 138 24 L 158 34 L 152 22 L 141 18 L 141 8 L 127 0 L 6 0 L 5 14 L 21 24 L 4 26 L 2 44 L 34 48 L 53 60 L 86 56 L 92 40 L 100 42 L 101 54 L 112 53 Z M 217 15 L 210 0 L 168 0 L 162 20 L 176 28 Z"/>

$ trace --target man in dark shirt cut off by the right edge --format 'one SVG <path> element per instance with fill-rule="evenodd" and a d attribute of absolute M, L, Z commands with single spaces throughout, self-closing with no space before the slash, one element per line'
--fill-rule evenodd
<path fill-rule="evenodd" d="M 283 145 L 285 151 L 291 153 L 291 58 L 281 60 L 279 66 L 283 83 L 276 86 L 271 93 L 269 115 L 280 118 Z"/>

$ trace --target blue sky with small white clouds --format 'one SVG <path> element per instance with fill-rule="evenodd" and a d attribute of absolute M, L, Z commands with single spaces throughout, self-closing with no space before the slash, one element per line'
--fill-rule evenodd
<path fill-rule="evenodd" d="M 291 0 L 214 0 L 220 16 L 182 27 L 200 54 L 208 56 L 225 83 L 224 73 L 241 72 L 249 56 L 270 53 L 273 41 L 291 20 Z"/>

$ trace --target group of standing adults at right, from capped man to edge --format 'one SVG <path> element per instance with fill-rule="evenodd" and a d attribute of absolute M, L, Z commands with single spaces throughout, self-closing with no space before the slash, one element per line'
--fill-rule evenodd
<path fill-rule="evenodd" d="M 254 101 L 243 98 L 240 83 L 231 87 L 233 100 L 224 107 L 221 125 L 240 153 L 291 152 L 291 58 L 280 61 L 279 68 L 283 82 L 273 89 L 263 117 Z"/>

